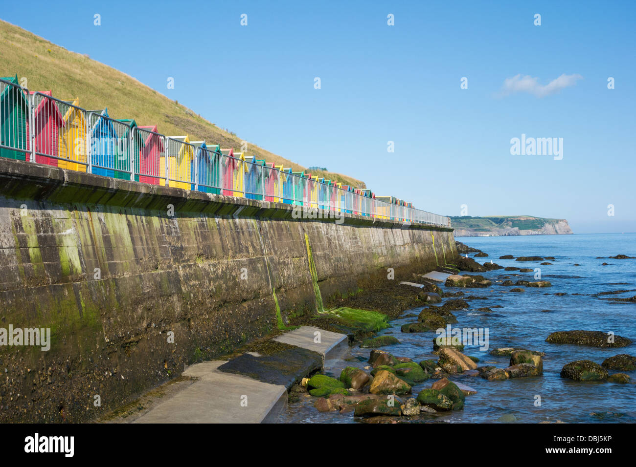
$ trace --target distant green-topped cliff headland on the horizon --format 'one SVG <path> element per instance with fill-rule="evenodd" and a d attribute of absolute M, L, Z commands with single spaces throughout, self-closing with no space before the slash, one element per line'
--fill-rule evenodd
<path fill-rule="evenodd" d="M 490 237 L 502 235 L 565 235 L 572 229 L 565 219 L 545 219 L 531 215 L 451 217 L 456 237 Z"/>

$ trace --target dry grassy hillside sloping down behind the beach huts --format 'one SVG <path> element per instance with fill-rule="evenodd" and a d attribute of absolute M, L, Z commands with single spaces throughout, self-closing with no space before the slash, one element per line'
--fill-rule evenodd
<path fill-rule="evenodd" d="M 16 73 L 18 79 L 27 78 L 29 90 L 52 90 L 54 97 L 63 99 L 79 97 L 79 104 L 84 109 L 108 107 L 108 113 L 114 118 L 134 118 L 137 125 L 158 125 L 164 135 L 188 134 L 191 140 L 205 139 L 237 151 L 245 140 L 248 141 L 249 155 L 295 171 L 305 169 L 250 144 L 247 139 L 221 130 L 196 112 L 127 74 L 0 20 L 0 76 Z M 284 138 L 284 134 L 280 138 Z M 339 173 L 312 171 L 314 173 L 346 185 L 366 187 L 364 182 Z"/>

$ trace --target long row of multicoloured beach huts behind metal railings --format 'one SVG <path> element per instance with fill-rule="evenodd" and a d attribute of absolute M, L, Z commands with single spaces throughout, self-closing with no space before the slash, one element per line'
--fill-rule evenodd
<path fill-rule="evenodd" d="M 29 91 L 17 76 L 0 78 L 0 156 L 205 193 L 335 212 L 448 226 L 448 217 L 393 196 L 294 172 L 245 152 L 165 136 L 156 125 L 116 119 L 107 107 L 86 110 L 78 97 Z"/>

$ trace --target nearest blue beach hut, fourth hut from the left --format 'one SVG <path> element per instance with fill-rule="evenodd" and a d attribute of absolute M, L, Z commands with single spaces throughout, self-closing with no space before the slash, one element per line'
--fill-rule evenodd
<path fill-rule="evenodd" d="M 115 176 L 115 159 L 118 157 L 117 133 L 108 116 L 108 109 L 89 111 L 90 158 L 95 175 Z"/>

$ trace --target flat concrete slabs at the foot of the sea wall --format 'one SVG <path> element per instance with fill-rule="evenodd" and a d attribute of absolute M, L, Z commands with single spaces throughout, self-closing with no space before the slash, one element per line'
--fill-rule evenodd
<path fill-rule="evenodd" d="M 191 365 L 196 378 L 133 423 L 272 423 L 287 408 L 287 389 L 349 348 L 345 334 L 302 326 L 274 339 L 300 348 L 275 356 L 246 353 Z M 287 354 L 287 355 L 286 355 Z M 284 370 L 280 370 L 282 363 Z"/>

